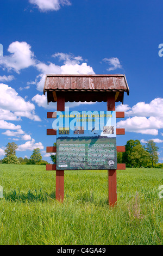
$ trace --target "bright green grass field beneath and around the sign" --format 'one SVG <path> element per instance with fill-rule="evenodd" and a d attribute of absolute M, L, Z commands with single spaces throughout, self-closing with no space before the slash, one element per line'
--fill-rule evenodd
<path fill-rule="evenodd" d="M 117 170 L 112 209 L 105 170 L 66 170 L 61 204 L 45 169 L 0 164 L 0 245 L 162 245 L 163 169 Z"/>

